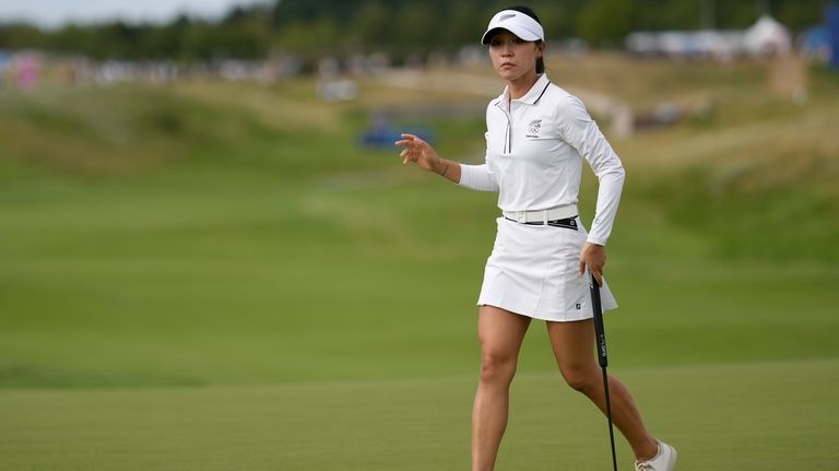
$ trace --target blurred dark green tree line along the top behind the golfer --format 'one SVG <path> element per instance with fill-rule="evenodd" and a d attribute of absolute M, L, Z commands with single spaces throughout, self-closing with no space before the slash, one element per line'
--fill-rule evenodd
<path fill-rule="evenodd" d="M 516 0 L 276 0 L 235 7 L 214 21 L 114 21 L 43 30 L 0 23 L 0 48 L 93 59 L 206 61 L 387 51 L 454 50 L 476 44 L 491 15 Z M 744 28 L 760 13 L 801 31 L 822 22 L 826 0 L 533 0 L 548 39 L 621 47 L 631 31 Z"/>

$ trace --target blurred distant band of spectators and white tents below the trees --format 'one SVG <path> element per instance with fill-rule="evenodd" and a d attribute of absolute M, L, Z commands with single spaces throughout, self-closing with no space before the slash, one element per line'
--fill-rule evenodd
<path fill-rule="evenodd" d="M 745 30 L 701 30 L 633 32 L 626 36 L 624 50 L 634 56 L 664 59 L 729 61 L 738 58 L 796 56 L 805 60 L 829 62 L 830 32 L 824 25 L 794 36 L 769 15 L 763 15 Z M 552 44 L 552 50 L 584 55 L 589 50 L 580 39 Z M 466 64 L 486 61 L 478 46 L 465 46 L 452 54 L 407 55 L 397 63 L 387 52 L 354 54 L 346 57 L 307 58 L 277 55 L 264 60 L 218 59 L 178 62 L 174 60 L 105 60 L 39 50 L 0 49 L 0 91 L 33 90 L 43 83 L 98 84 L 120 82 L 166 83 L 177 80 L 214 79 L 273 83 L 299 74 L 321 79 L 324 99 L 354 96 L 347 78 L 377 74 L 394 67 L 421 70 L 425 67 Z"/>

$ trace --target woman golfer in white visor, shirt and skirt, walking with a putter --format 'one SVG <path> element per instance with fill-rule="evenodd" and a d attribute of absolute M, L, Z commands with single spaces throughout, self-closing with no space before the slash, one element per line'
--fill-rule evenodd
<path fill-rule="evenodd" d="M 586 270 L 602 286 L 603 309 L 617 306 L 603 282 L 624 168 L 583 104 L 544 73 L 545 37 L 536 14 L 511 7 L 489 21 L 482 43 L 504 93 L 486 108 L 486 162 L 440 158 L 413 134 L 395 144 L 415 163 L 466 188 L 497 191 L 501 216 L 477 301 L 481 380 L 472 411 L 472 470 L 492 470 L 507 425 L 509 386 L 532 319 L 547 323 L 568 385 L 605 411 L 602 372 Z M 583 160 L 599 179 L 587 233 L 577 211 Z M 608 378 L 612 416 L 636 457 L 636 469 L 671 471 L 676 451 L 645 427 L 626 387 Z"/>

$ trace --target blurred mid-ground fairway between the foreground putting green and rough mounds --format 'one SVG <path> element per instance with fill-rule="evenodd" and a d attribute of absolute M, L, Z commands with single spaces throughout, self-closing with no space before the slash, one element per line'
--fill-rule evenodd
<path fill-rule="evenodd" d="M 473 367 L 488 196 L 434 181 L 78 191 L 7 203 L 0 384 L 375 379 Z M 622 304 L 610 327 L 625 364 L 836 355 L 835 269 L 704 260 L 701 240 L 633 213 L 610 261 Z M 655 237 L 669 242 L 650 258 Z M 635 345 L 648 335 L 657 340 Z"/>

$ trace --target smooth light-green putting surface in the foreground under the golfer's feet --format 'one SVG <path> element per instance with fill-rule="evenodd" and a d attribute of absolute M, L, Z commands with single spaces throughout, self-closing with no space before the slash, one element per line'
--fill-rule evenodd
<path fill-rule="evenodd" d="M 839 362 L 615 368 L 682 469 L 836 469 Z M 0 392 L 8 470 L 462 470 L 474 378 Z M 498 470 L 608 469 L 605 420 L 524 372 Z M 631 454 L 621 440 L 622 469 Z"/>

